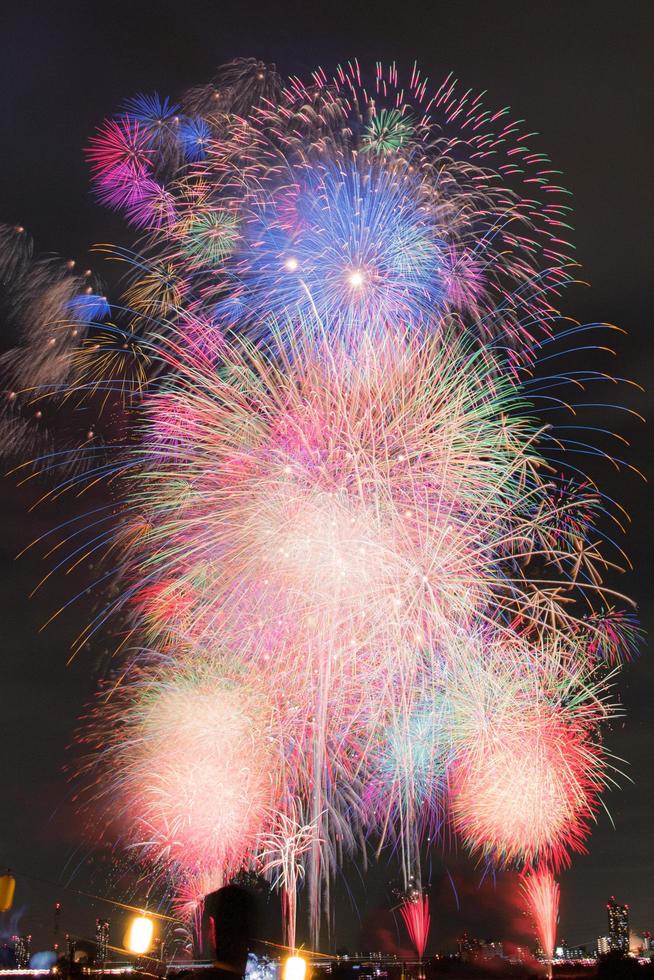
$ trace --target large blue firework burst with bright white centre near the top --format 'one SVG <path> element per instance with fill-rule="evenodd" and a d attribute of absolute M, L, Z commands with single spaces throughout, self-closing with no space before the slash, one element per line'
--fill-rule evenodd
<path fill-rule="evenodd" d="M 248 215 L 227 268 L 245 331 L 317 320 L 352 338 L 433 322 L 445 303 L 447 247 L 438 207 L 410 165 L 352 157 L 289 176 Z"/>

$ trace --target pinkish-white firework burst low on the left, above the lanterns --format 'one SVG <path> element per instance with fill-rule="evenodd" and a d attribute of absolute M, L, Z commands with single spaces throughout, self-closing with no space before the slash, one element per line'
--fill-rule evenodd
<path fill-rule="evenodd" d="M 260 685 L 253 690 L 218 656 L 184 666 L 150 658 L 101 702 L 92 731 L 103 744 L 93 762 L 103 772 L 98 792 L 110 796 L 126 842 L 140 860 L 174 868 L 189 904 L 256 851 L 276 769 Z"/>

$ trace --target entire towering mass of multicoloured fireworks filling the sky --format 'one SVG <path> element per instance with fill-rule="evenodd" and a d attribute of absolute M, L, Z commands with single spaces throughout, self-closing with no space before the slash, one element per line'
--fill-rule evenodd
<path fill-rule="evenodd" d="M 104 555 L 119 585 L 79 638 L 113 617 L 136 649 L 84 775 L 189 917 L 255 868 L 291 946 L 306 887 L 317 945 L 346 857 L 395 849 L 406 888 L 452 832 L 556 870 L 614 782 L 601 731 L 638 629 L 603 583 L 619 510 L 560 463 L 592 449 L 533 407 L 603 376 L 530 377 L 578 329 L 554 306 L 565 192 L 530 140 L 451 77 L 354 62 L 283 84 L 241 60 L 91 141 L 98 198 L 144 238 L 99 247 L 120 305 L 48 272 L 39 324 L 64 309 L 77 332 L 18 358 L 14 397 L 121 430 L 40 454 L 44 498 L 104 482 L 119 515 L 44 535 L 46 578 Z M 24 299 L 30 248 L 5 238 Z M 422 955 L 426 896 L 405 912 Z"/>

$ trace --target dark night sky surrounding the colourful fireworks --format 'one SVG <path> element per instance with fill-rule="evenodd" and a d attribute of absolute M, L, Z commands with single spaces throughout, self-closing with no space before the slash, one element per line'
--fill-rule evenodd
<path fill-rule="evenodd" d="M 578 256 L 592 289 L 571 291 L 563 306 L 581 320 L 608 320 L 628 331 L 619 341 L 615 373 L 650 391 L 617 397 L 651 414 L 654 4 L 648 0 L 400 0 L 387 7 L 372 0 L 14 0 L 2 4 L 0 23 L 0 221 L 25 225 L 39 250 L 83 264 L 89 245 L 129 240 L 120 219 L 91 201 L 82 156 L 94 127 L 126 96 L 157 90 L 174 97 L 208 80 L 221 62 L 249 55 L 298 74 L 352 57 L 400 65 L 417 59 L 435 81 L 453 70 L 466 86 L 487 89 L 491 104 L 511 104 L 543 134 L 564 171 L 574 192 Z M 598 419 L 603 421 L 601 413 Z M 626 417 L 612 423 L 632 441 L 630 459 L 649 473 L 647 428 Z M 638 600 L 651 630 L 647 487 L 610 467 L 600 478 L 633 518 L 627 550 L 637 574 L 620 584 Z M 2 483 L 0 495 L 0 865 L 42 880 L 21 878 L 16 910 L 21 931 L 34 931 L 45 945 L 55 899 L 64 905 L 64 929 L 88 933 L 96 914 L 112 914 L 45 882 L 72 877 L 73 888 L 121 897 L 111 891 L 106 857 L 86 860 L 89 847 L 62 771 L 102 651 L 85 652 L 66 667 L 91 596 L 39 632 L 85 579 L 53 580 L 29 601 L 43 566 L 29 557 L 14 562 L 14 556 L 51 525 L 52 512 L 28 513 L 31 493 L 15 489 L 11 480 Z M 560 934 L 573 942 L 590 942 L 605 931 L 603 906 L 611 894 L 631 904 L 636 929 L 654 930 L 654 666 L 646 651 L 624 671 L 620 689 L 627 718 L 614 726 L 608 743 L 628 760 L 633 784 L 623 781 L 622 791 L 608 796 L 615 828 L 601 816 L 589 854 L 562 878 Z M 447 871 L 457 883 L 460 912 Z M 361 918 L 372 914 L 368 937 L 379 925 L 374 908 L 391 874 L 386 867 L 369 872 L 370 908 L 356 875 L 349 876 Z M 433 913 L 434 944 L 464 928 L 503 933 L 512 914 L 510 888 L 500 884 L 493 895 L 488 886 L 480 891 L 478 880 L 462 857 L 434 855 L 434 895 L 441 896 Z M 358 913 L 340 891 L 338 943 L 370 945 L 360 938 Z M 14 926 L 0 916 L 1 931 Z"/>

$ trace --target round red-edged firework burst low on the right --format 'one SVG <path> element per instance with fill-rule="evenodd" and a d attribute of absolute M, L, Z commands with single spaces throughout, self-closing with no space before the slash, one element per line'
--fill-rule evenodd
<path fill-rule="evenodd" d="M 470 848 L 497 864 L 557 867 L 583 850 L 613 781 L 598 731 L 615 708 L 606 679 L 568 651 L 525 645 L 516 657 L 507 646 L 469 648 L 451 681 L 462 749 L 449 772 L 452 816 Z"/>

